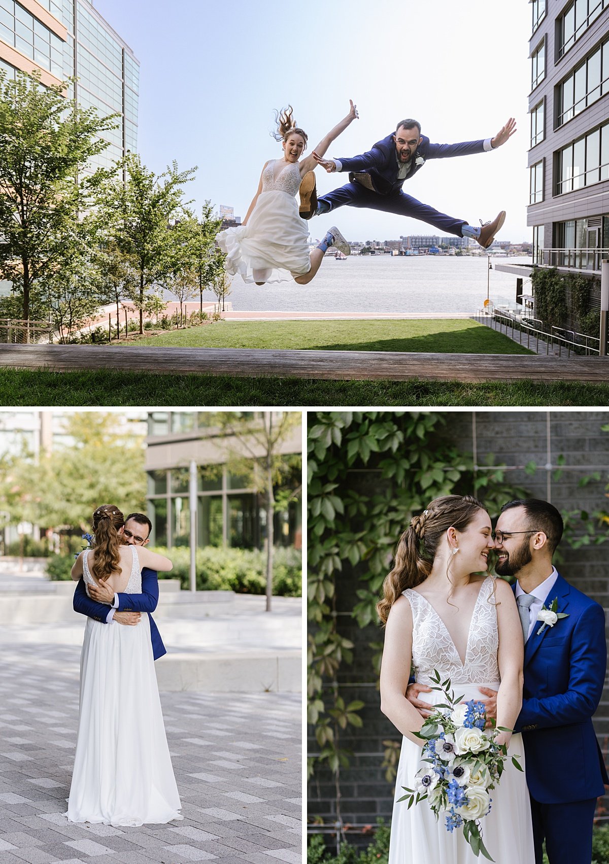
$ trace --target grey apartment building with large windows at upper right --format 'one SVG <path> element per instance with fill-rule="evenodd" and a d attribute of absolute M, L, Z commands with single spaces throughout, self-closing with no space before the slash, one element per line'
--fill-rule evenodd
<path fill-rule="evenodd" d="M 533 261 L 599 276 L 609 253 L 609 0 L 530 0 Z"/>

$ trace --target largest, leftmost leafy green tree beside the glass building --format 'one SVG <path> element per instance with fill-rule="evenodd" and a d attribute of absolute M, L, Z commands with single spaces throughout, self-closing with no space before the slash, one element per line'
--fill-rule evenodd
<path fill-rule="evenodd" d="M 86 163 L 108 144 L 111 115 L 78 107 L 66 84 L 43 87 L 40 76 L 0 69 L 0 279 L 13 283 L 21 317 L 47 297 L 48 278 L 63 266 L 73 226 L 91 201 L 100 173 Z"/>

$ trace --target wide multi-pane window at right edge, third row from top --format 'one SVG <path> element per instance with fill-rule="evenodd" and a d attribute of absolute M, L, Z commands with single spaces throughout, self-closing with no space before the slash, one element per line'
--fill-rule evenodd
<path fill-rule="evenodd" d="M 557 195 L 609 179 L 609 124 L 559 150 L 555 167 Z"/>

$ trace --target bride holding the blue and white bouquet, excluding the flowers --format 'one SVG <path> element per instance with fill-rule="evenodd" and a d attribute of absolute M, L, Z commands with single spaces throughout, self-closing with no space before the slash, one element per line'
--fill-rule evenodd
<path fill-rule="evenodd" d="M 484 699 L 479 687 L 498 689 L 497 725 L 513 728 L 523 689 L 523 631 L 507 582 L 485 574 L 494 546 L 483 505 L 469 496 L 435 499 L 410 522 L 384 581 L 378 613 L 386 622 L 381 667 L 381 710 L 403 734 L 391 821 L 389 864 L 474 864 L 481 861 L 463 832 L 449 833 L 443 816 L 422 801 L 408 809 L 398 802 L 403 786 L 415 787 L 422 742 L 413 735 L 422 715 L 405 696 L 411 664 L 417 683 L 430 683 L 438 670 L 451 679 L 457 696 Z M 432 704 L 441 692 L 426 694 Z M 509 755 L 520 757 L 520 734 L 500 733 Z M 480 820 L 481 833 L 496 864 L 534 864 L 529 792 L 524 772 L 511 759 L 492 790 L 492 809 Z"/>

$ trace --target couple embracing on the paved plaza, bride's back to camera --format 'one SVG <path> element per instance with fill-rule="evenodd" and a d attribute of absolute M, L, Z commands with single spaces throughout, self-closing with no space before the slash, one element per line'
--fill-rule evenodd
<path fill-rule="evenodd" d="M 182 818 L 154 668 L 166 651 L 150 615 L 159 599 L 156 571 L 173 564 L 145 548 L 151 527 L 141 513 L 125 520 L 117 506 L 101 505 L 92 548 L 73 564 L 74 609 L 87 619 L 70 822 Z"/>

